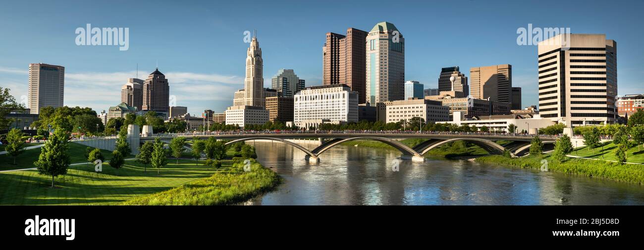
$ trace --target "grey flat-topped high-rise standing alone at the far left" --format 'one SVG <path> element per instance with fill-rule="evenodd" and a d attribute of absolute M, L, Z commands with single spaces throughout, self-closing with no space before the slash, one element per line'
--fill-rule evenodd
<path fill-rule="evenodd" d="M 30 113 L 37 114 L 44 107 L 62 107 L 64 88 L 65 67 L 44 63 L 29 64 Z"/>

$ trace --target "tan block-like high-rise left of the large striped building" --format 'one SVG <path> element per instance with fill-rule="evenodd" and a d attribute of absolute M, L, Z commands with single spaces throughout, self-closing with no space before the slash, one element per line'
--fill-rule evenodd
<path fill-rule="evenodd" d="M 469 69 L 471 95 L 477 99 L 512 102 L 512 65 L 500 64 Z M 521 108 L 521 105 L 518 106 Z"/>

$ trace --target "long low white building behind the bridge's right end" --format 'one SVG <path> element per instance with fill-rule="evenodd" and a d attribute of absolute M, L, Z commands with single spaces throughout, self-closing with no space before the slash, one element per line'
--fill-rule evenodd
<path fill-rule="evenodd" d="M 507 132 L 507 126 L 514 124 L 516 126 L 516 133 L 521 131 L 528 131 L 530 134 L 536 134 L 536 129 L 545 128 L 554 125 L 551 119 L 541 118 L 540 115 L 484 115 L 480 117 L 473 117 L 471 119 L 465 118 L 465 113 L 462 111 L 454 111 L 454 118 L 451 122 L 437 122 L 446 124 L 456 124 L 458 126 L 477 126 L 477 128 L 486 126 L 489 131 L 503 131 Z"/>

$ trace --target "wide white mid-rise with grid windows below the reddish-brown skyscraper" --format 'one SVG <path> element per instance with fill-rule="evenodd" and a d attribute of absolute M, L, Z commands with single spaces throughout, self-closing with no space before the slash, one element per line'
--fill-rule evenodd
<path fill-rule="evenodd" d="M 358 93 L 351 91 L 346 84 L 308 87 L 299 91 L 294 99 L 293 118 L 296 126 L 300 128 L 317 126 L 325 120 L 328 122 L 358 121 Z"/>

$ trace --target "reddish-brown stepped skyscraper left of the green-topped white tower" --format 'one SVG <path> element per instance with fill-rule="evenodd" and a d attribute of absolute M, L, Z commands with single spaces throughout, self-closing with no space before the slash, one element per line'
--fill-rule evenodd
<path fill-rule="evenodd" d="M 365 41 L 367 32 L 348 28 L 346 36 L 327 33 L 322 48 L 322 83 L 346 84 L 365 102 Z"/>

